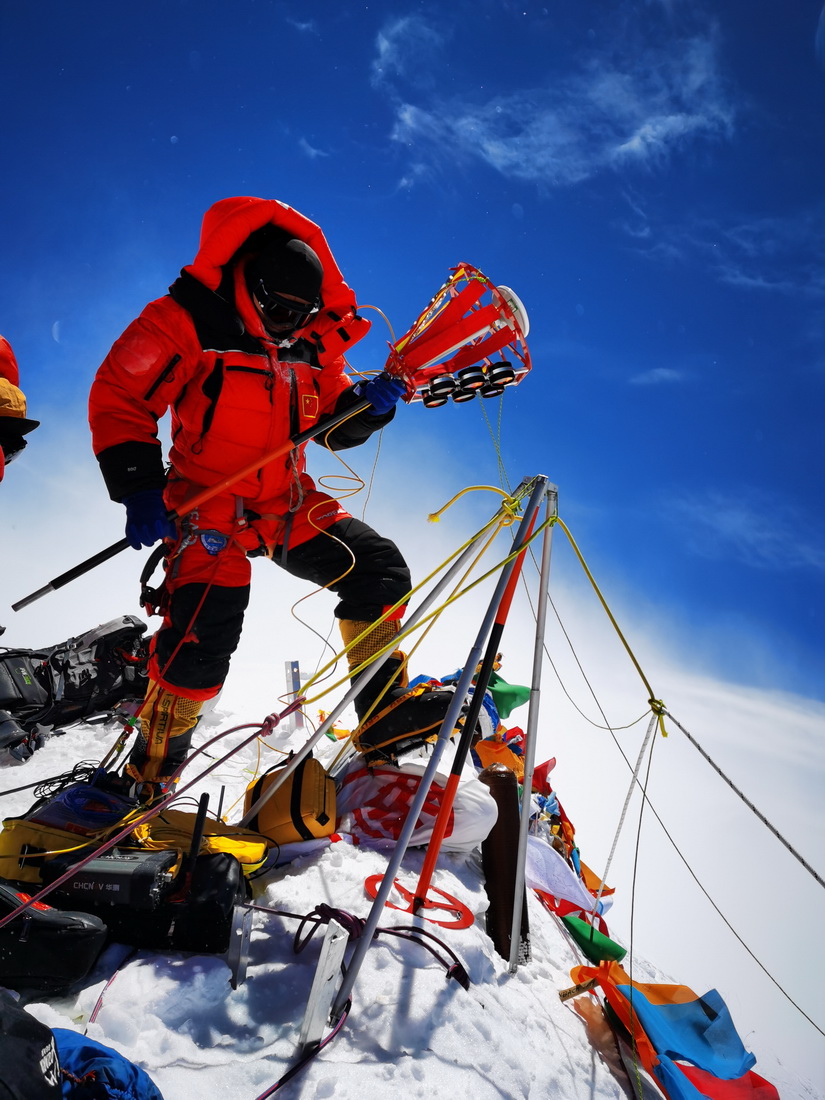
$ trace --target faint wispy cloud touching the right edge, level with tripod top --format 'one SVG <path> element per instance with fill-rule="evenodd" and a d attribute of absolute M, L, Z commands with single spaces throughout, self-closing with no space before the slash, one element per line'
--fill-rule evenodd
<path fill-rule="evenodd" d="M 755 569 L 825 570 L 823 532 L 776 501 L 756 494 L 685 494 L 664 506 L 702 558 L 739 561 Z"/>

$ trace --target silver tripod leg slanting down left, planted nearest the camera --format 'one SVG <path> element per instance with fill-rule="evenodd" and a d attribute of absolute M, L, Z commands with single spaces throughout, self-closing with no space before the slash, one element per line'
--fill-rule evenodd
<path fill-rule="evenodd" d="M 475 675 L 476 667 L 482 657 L 484 642 L 486 641 L 487 635 L 493 628 L 493 624 L 495 623 L 495 617 L 498 612 L 498 605 L 501 604 L 502 597 L 504 596 L 505 590 L 507 587 L 507 582 L 509 581 L 510 578 L 510 573 L 515 569 L 516 559 L 518 557 L 517 551 L 527 539 L 528 531 L 530 530 L 530 524 L 532 522 L 536 512 L 538 510 L 541 497 L 544 495 L 547 491 L 547 477 L 544 477 L 543 475 L 539 475 L 537 477 L 526 480 L 525 482 L 521 483 L 521 485 L 530 485 L 530 484 L 532 485 L 530 499 L 527 504 L 527 507 L 525 508 L 525 514 L 521 518 L 521 522 L 519 524 L 518 534 L 516 535 L 516 538 L 513 542 L 513 557 L 510 561 L 502 570 L 502 573 L 498 578 L 498 583 L 496 584 L 495 592 L 493 593 L 493 598 L 491 600 L 486 615 L 484 616 L 484 622 L 482 623 L 479 634 L 476 636 L 475 645 L 471 649 L 470 656 L 466 659 L 466 663 L 462 669 L 461 675 L 459 678 L 459 683 L 455 688 L 455 694 L 452 698 L 452 702 L 450 703 L 447 716 L 444 717 L 444 721 L 441 724 L 441 728 L 439 729 L 436 744 L 432 747 L 432 756 L 430 757 L 430 761 L 427 765 L 427 769 L 424 776 L 421 777 L 421 782 L 418 784 L 418 791 L 416 792 L 416 796 L 413 800 L 413 803 L 410 804 L 409 811 L 407 812 L 407 817 L 404 822 L 404 826 L 402 827 L 398 840 L 396 842 L 395 849 L 389 858 L 389 862 L 387 864 L 387 869 L 384 872 L 384 878 L 382 879 L 372 909 L 370 910 L 370 915 L 367 916 L 364 923 L 364 928 L 355 945 L 355 950 L 352 954 L 352 959 L 350 960 L 350 965 L 346 967 L 346 972 L 343 976 L 341 988 L 338 991 L 338 997 L 336 998 L 336 1002 L 332 1005 L 332 1015 L 331 1015 L 332 1021 L 340 1020 L 343 1010 L 346 1005 L 346 1000 L 352 991 L 352 987 L 355 983 L 355 978 L 358 977 L 358 972 L 361 969 L 361 964 L 364 961 L 364 956 L 366 955 L 367 950 L 370 949 L 370 945 L 372 944 L 373 937 L 375 935 L 375 930 L 378 925 L 378 921 L 381 920 L 382 910 L 384 909 L 384 904 L 386 903 L 386 900 L 389 897 L 389 891 L 393 889 L 393 884 L 395 882 L 395 876 L 397 875 L 398 868 L 400 867 L 400 862 L 404 859 L 404 856 L 407 851 L 407 847 L 409 845 L 409 838 L 413 836 L 416 825 L 418 824 L 418 817 L 421 813 L 421 807 L 424 806 L 424 803 L 427 799 L 430 787 L 432 784 L 432 780 L 435 779 L 436 771 L 438 769 L 438 765 L 441 759 L 441 754 L 443 752 L 444 746 L 447 745 L 447 741 L 450 738 L 450 734 L 455 728 L 455 723 L 458 722 L 459 714 L 466 701 L 470 688 L 473 682 L 473 676 Z M 519 486 L 519 488 L 521 486 Z"/>

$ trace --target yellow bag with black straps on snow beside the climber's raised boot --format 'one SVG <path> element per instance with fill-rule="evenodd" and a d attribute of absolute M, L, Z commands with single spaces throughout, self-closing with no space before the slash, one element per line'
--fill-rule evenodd
<path fill-rule="evenodd" d="M 276 763 L 246 788 L 244 816 L 288 762 Z M 305 757 L 250 822 L 276 844 L 311 840 L 336 832 L 336 784 L 315 757 Z"/>

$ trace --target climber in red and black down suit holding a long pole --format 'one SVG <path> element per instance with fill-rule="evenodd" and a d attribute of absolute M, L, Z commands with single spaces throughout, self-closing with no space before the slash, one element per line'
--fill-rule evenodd
<path fill-rule="evenodd" d="M 144 793 L 186 758 L 204 701 L 223 684 L 249 602 L 250 557 L 329 585 L 348 645 L 409 591 L 398 548 L 315 487 L 304 446 L 167 518 L 363 398 L 371 408 L 319 441 L 356 447 L 388 424 L 404 384 L 378 376 L 353 386 L 344 373 L 344 351 L 367 329 L 316 224 L 273 199 L 227 198 L 206 212 L 195 261 L 97 373 L 89 422 L 109 494 L 125 505 L 135 549 L 165 540 L 163 623 L 127 769 Z M 167 410 L 168 472 L 157 439 Z M 400 614 L 350 650 L 350 668 L 392 641 Z M 387 683 L 400 691 L 403 675 L 403 654 L 393 654 L 356 698 L 359 715 Z"/>

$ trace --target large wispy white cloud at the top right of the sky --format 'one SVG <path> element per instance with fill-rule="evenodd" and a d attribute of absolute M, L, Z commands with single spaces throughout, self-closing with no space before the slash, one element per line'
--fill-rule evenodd
<path fill-rule="evenodd" d="M 678 147 L 727 136 L 735 110 L 712 31 L 623 53 L 582 55 L 544 86 L 484 101 L 421 95 L 440 32 L 418 16 L 378 35 L 373 82 L 396 99 L 392 138 L 430 165 L 482 161 L 503 176 L 561 187 L 606 170 L 651 168 Z M 407 87 L 414 77 L 415 87 Z M 404 89 L 404 90 L 402 90 Z M 411 95 L 410 92 L 416 92 Z"/>

